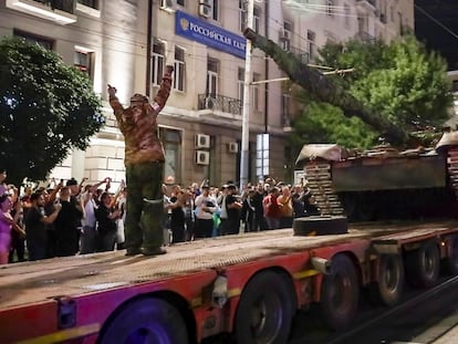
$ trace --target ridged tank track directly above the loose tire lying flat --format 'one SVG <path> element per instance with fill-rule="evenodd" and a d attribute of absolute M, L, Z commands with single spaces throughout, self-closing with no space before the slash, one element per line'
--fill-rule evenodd
<path fill-rule="evenodd" d="M 332 189 L 331 164 L 326 160 L 313 160 L 305 165 L 308 187 L 315 198 L 322 216 L 344 215 L 337 194 Z M 458 152 L 457 152 L 458 185 Z"/>

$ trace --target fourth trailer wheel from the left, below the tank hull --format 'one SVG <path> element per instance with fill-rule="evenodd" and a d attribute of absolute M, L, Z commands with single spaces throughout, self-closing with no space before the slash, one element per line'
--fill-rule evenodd
<path fill-rule="evenodd" d="M 378 283 L 373 283 L 371 296 L 377 303 L 387 306 L 395 305 L 404 290 L 404 264 L 398 254 L 382 254 Z"/>

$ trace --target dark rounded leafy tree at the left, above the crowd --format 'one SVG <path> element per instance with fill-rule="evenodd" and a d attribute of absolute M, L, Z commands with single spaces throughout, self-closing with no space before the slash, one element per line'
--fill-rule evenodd
<path fill-rule="evenodd" d="M 87 75 L 18 38 L 0 41 L 0 168 L 42 180 L 70 149 L 85 149 L 105 118 Z"/>

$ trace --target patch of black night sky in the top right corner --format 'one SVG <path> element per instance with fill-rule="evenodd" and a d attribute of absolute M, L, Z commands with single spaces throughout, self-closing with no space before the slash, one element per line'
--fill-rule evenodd
<path fill-rule="evenodd" d="M 458 0 L 414 0 L 415 33 L 458 70 Z"/>

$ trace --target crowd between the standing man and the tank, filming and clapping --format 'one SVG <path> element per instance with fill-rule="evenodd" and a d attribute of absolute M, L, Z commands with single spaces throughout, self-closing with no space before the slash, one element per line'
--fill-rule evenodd
<path fill-rule="evenodd" d="M 292 227 L 296 217 L 320 215 L 306 183 L 287 185 L 266 178 L 243 190 L 194 183 L 165 185 L 166 243 Z"/>

